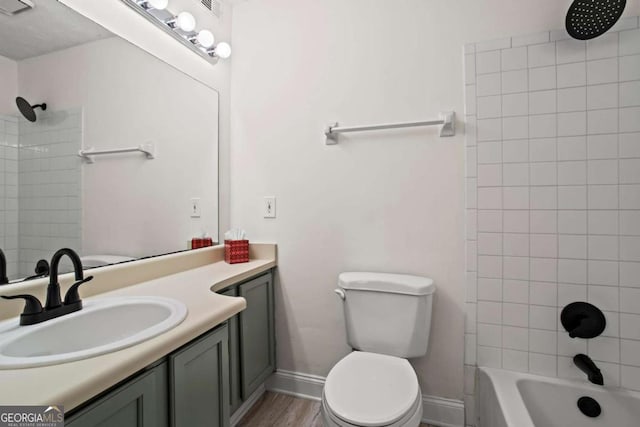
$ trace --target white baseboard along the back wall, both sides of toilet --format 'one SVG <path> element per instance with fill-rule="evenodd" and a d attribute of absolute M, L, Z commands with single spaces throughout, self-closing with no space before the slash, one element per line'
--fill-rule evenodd
<path fill-rule="evenodd" d="M 269 377 L 269 391 L 304 399 L 320 400 L 324 377 L 278 370 Z M 422 396 L 422 422 L 438 427 L 464 427 L 464 403 L 461 400 Z"/>

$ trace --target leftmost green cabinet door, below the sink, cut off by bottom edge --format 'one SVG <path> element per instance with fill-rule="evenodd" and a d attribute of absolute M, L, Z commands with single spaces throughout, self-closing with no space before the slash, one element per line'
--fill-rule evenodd
<path fill-rule="evenodd" d="M 167 426 L 167 367 L 129 380 L 65 421 L 67 427 Z"/>

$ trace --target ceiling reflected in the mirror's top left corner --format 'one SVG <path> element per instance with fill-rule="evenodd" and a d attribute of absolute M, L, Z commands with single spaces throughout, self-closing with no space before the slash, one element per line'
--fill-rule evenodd
<path fill-rule="evenodd" d="M 31 10 L 0 14 L 1 56 L 21 60 L 113 36 L 58 0 L 32 1 Z"/>

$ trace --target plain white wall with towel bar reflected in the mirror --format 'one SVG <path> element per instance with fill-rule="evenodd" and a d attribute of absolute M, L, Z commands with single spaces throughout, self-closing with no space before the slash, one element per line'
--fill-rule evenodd
<path fill-rule="evenodd" d="M 18 66 L 27 99 L 83 110 L 85 149 L 156 145 L 154 160 L 120 155 L 82 166 L 85 254 L 139 257 L 186 249 L 203 231 L 215 238 L 216 91 L 117 37 Z M 200 219 L 190 217 L 192 197 L 201 199 Z"/>

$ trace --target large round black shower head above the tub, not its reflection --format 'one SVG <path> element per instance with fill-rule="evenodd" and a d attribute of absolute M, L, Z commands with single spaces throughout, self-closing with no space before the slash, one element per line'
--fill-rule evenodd
<path fill-rule="evenodd" d="M 575 0 L 565 25 L 571 37 L 589 40 L 603 35 L 618 22 L 627 0 Z"/>

